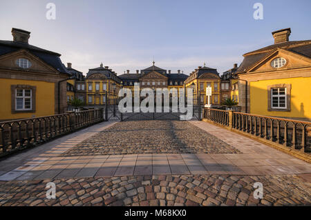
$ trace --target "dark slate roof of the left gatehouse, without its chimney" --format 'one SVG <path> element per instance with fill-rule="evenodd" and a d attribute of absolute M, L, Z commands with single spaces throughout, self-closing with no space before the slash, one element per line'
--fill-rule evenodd
<path fill-rule="evenodd" d="M 58 54 L 57 52 L 44 50 L 42 48 L 32 46 L 28 43 L 20 43 L 15 41 L 0 41 L 0 56 L 21 49 L 27 50 L 35 56 L 39 57 L 39 59 L 48 63 L 50 66 L 53 66 L 53 68 L 55 68 L 59 72 L 68 74 L 66 67 L 59 58 L 61 54 Z"/>

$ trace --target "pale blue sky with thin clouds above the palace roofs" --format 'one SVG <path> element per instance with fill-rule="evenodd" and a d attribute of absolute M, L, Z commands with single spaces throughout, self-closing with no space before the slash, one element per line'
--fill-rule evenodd
<path fill-rule="evenodd" d="M 56 19 L 46 19 L 46 4 Z M 255 20 L 254 3 L 263 4 Z M 103 63 L 118 74 L 156 66 L 189 74 L 206 63 L 220 74 L 243 54 L 273 43 L 271 32 L 291 28 L 290 40 L 311 39 L 311 1 L 16 1 L 1 0 L 0 39 L 11 28 L 31 32 L 29 43 L 62 54 L 84 74 Z"/>

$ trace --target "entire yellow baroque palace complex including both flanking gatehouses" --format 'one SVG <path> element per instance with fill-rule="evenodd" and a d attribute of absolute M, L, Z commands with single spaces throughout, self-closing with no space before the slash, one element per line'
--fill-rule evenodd
<path fill-rule="evenodd" d="M 310 121 L 311 40 L 289 41 L 290 28 L 272 32 L 274 44 L 243 55 L 240 66 L 219 74 L 216 68 L 198 66 L 184 74 L 153 65 L 143 70 L 117 74 L 101 63 L 86 76 L 64 66 L 60 54 L 28 43 L 30 32 L 12 28 L 13 41 L 0 41 L 0 121 L 60 114 L 79 99 L 84 108 L 100 108 L 120 88 L 193 88 L 200 103 L 274 117 Z M 209 88 L 209 96 L 206 95 Z"/>

